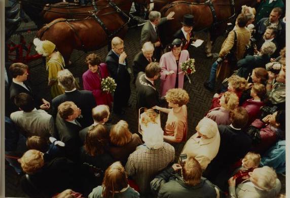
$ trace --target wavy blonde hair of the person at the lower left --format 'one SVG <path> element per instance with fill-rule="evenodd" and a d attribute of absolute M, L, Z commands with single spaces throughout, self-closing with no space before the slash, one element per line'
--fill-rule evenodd
<path fill-rule="evenodd" d="M 39 150 L 28 150 L 18 162 L 25 173 L 33 174 L 44 166 L 43 153 Z"/>

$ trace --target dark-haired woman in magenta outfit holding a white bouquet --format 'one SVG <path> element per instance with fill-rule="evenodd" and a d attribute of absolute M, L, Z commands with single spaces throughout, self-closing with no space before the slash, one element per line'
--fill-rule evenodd
<path fill-rule="evenodd" d="M 83 73 L 84 90 L 89 90 L 93 93 L 97 105 L 105 104 L 111 108 L 112 95 L 103 92 L 101 89 L 102 78 L 110 76 L 106 64 L 101 63 L 100 57 L 94 53 L 87 56 L 86 63 L 89 69 Z"/>

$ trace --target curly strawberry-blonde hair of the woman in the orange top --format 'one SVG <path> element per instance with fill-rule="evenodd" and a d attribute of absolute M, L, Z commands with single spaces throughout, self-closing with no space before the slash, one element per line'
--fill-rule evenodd
<path fill-rule="evenodd" d="M 189 95 L 188 93 L 180 88 L 170 89 L 165 95 L 167 102 L 172 102 L 173 104 L 178 104 L 178 106 L 183 106 L 188 103 Z"/>

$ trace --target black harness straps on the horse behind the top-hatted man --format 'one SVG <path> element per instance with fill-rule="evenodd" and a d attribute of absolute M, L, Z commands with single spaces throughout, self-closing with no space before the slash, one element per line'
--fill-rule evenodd
<path fill-rule="evenodd" d="M 230 5 L 231 5 L 231 11 L 232 11 L 232 16 L 230 16 L 229 18 L 225 19 L 225 20 L 222 20 L 222 21 L 219 21 L 218 20 L 218 17 L 216 16 L 216 13 L 215 13 L 215 9 L 214 9 L 214 5 L 212 3 L 212 0 L 207 0 L 206 2 L 204 3 L 195 3 L 195 2 L 186 2 L 186 1 L 183 1 L 183 2 L 176 2 L 176 3 L 171 3 L 169 4 L 169 6 L 164 10 L 164 13 L 169 9 L 169 8 L 172 8 L 173 6 L 177 5 L 177 4 L 190 4 L 190 5 L 203 5 L 203 6 L 208 6 L 210 8 L 210 11 L 211 11 L 211 14 L 212 14 L 212 18 L 213 18 L 213 23 L 212 23 L 212 27 L 214 28 L 216 25 L 220 25 L 222 23 L 224 23 L 225 21 L 233 18 L 235 15 L 236 15 L 236 12 L 235 12 L 235 2 L 234 0 L 229 0 L 230 1 Z M 206 28 L 205 28 L 206 29 Z"/>

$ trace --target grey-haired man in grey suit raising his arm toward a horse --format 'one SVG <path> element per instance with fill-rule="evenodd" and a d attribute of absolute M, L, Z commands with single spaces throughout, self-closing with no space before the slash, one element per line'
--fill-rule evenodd
<path fill-rule="evenodd" d="M 149 20 L 143 25 L 141 30 L 141 45 L 143 46 L 146 42 L 153 43 L 155 50 L 153 57 L 156 58 L 157 61 L 160 60 L 162 55 L 162 44 L 159 38 L 159 32 L 157 26 L 159 24 L 164 23 L 167 20 L 173 19 L 174 12 L 170 12 L 167 17 L 161 18 L 160 12 L 151 11 L 149 13 Z"/>

